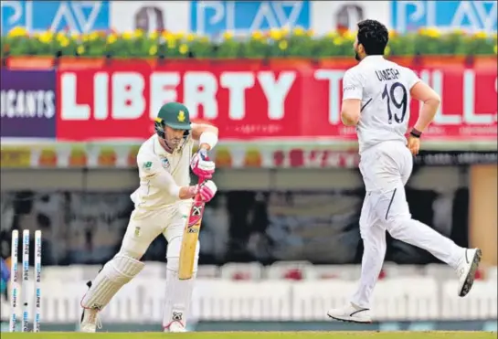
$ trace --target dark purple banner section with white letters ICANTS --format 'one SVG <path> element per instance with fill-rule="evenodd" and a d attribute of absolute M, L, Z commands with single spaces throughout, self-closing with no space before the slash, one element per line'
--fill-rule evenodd
<path fill-rule="evenodd" d="M 56 71 L 1 70 L 1 136 L 56 137 Z"/>

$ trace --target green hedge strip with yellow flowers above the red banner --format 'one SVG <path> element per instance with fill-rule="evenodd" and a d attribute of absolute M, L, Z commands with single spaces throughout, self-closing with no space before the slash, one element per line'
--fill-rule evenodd
<path fill-rule="evenodd" d="M 350 57 L 355 34 L 331 32 L 315 37 L 302 28 L 254 32 L 250 37 L 234 37 L 226 32 L 217 40 L 184 33 L 92 32 L 77 35 L 44 32 L 28 35 L 20 27 L 2 37 L 2 57 L 10 56 L 85 56 L 139 58 L 327 58 Z M 387 55 L 496 55 L 496 34 L 466 34 L 462 31 L 440 33 L 421 29 L 397 35 L 390 32 Z"/>

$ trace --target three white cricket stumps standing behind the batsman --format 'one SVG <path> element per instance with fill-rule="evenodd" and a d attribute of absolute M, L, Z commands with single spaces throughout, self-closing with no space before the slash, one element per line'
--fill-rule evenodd
<path fill-rule="evenodd" d="M 29 284 L 29 230 L 23 230 L 23 249 L 22 249 L 22 275 L 21 275 L 21 300 L 22 300 L 22 319 L 21 331 L 29 331 L 29 298 L 27 294 L 27 286 Z M 19 298 L 19 283 L 18 283 L 18 257 L 19 257 L 19 231 L 12 231 L 11 244 L 11 269 L 10 269 L 10 322 L 9 331 L 16 332 L 17 323 L 17 304 Z M 40 331 L 41 317 L 41 231 L 35 231 L 35 314 L 33 316 L 33 332 Z"/>

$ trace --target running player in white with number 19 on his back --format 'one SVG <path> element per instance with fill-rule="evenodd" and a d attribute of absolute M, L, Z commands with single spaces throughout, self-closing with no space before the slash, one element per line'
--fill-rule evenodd
<path fill-rule="evenodd" d="M 386 26 L 378 21 L 361 21 L 354 44 L 359 63 L 345 72 L 343 80 L 342 121 L 356 127 L 366 186 L 359 222 L 364 244 L 359 286 L 350 303 L 327 313 L 345 322 L 372 322 L 370 306 L 386 256 L 386 231 L 456 270 L 461 297 L 471 291 L 482 256 L 481 249 L 463 249 L 410 215 L 405 185 L 440 96 L 411 69 L 383 57 L 388 37 Z M 421 101 L 422 107 L 407 141 L 411 98 Z"/>

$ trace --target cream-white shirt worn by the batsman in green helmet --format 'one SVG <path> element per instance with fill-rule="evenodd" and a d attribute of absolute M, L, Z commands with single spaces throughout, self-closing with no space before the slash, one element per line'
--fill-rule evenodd
<path fill-rule="evenodd" d="M 156 134 L 142 144 L 137 154 L 140 187 L 132 194 L 135 207 L 156 209 L 175 204 L 180 200 L 164 187 L 159 187 L 153 178 L 159 171 L 166 171 L 169 174 L 167 179 L 174 181 L 166 185 L 178 187 L 190 185 L 189 168 L 193 146 L 192 136 L 188 136 L 181 147 L 178 147 L 173 154 L 169 154 L 159 143 Z"/>

